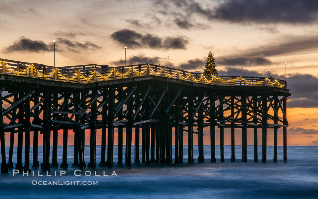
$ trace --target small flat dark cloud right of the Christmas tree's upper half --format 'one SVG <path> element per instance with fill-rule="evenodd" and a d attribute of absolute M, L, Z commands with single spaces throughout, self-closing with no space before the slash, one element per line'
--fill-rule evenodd
<path fill-rule="evenodd" d="M 225 66 L 260 66 L 271 65 L 273 62 L 265 57 L 221 57 L 217 63 Z"/>

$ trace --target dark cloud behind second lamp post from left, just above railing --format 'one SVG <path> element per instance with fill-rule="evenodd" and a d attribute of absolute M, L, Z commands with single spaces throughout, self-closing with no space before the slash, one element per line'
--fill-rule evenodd
<path fill-rule="evenodd" d="M 160 57 L 146 57 L 143 54 L 139 55 L 133 55 L 127 58 L 126 62 L 127 65 L 133 65 L 133 64 L 156 64 L 159 65 L 162 61 L 162 58 Z M 112 61 L 111 64 L 115 66 L 124 66 L 125 60 L 120 59 L 117 61 Z M 170 65 L 170 63 L 169 63 Z"/>

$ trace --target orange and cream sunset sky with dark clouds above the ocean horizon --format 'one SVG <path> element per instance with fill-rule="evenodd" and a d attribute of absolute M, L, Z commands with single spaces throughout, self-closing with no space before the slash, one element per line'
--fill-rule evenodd
<path fill-rule="evenodd" d="M 166 65 L 169 54 L 169 67 L 193 72 L 211 49 L 219 75 L 285 79 L 287 61 L 287 144 L 318 146 L 318 1 L 1 0 L 0 8 L 3 59 L 52 66 L 56 39 L 55 66 L 124 65 L 124 46 L 128 65 Z"/>

